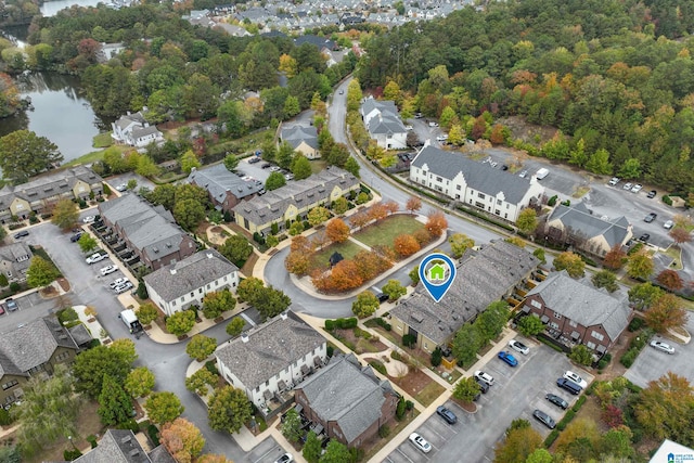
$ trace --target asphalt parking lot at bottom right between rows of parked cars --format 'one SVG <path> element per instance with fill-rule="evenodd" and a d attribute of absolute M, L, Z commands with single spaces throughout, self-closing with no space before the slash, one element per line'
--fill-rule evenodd
<path fill-rule="evenodd" d="M 558 422 L 564 411 L 547 401 L 548 393 L 555 394 L 569 406 L 579 396 L 560 389 L 556 378 L 566 370 L 573 370 L 584 380 L 592 377 L 582 370 L 571 365 L 566 356 L 548 346 L 520 339 L 530 347 L 530 352 L 523 356 L 513 352 L 518 366 L 511 368 L 503 361 L 493 358 L 483 368 L 494 377 L 494 385 L 487 394 L 483 394 L 477 403 L 476 413 L 467 413 L 454 402 L 448 401 L 446 407 L 458 415 L 458 423 L 449 425 L 437 414 L 433 414 L 416 429 L 432 443 L 429 453 L 422 453 L 409 440 L 402 441 L 397 450 L 386 459 L 391 463 L 411 462 L 481 462 L 493 461 L 493 448 L 503 439 L 504 432 L 515 419 L 525 419 L 543 437 L 550 429 L 532 417 L 535 409 L 547 412 Z"/>

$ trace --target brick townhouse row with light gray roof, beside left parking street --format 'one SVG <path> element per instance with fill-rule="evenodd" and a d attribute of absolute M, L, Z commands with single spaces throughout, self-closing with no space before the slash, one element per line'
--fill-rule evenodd
<path fill-rule="evenodd" d="M 157 270 L 195 254 L 197 245 L 163 206 L 136 194 L 99 204 L 99 214 L 121 244 L 146 267 Z"/>

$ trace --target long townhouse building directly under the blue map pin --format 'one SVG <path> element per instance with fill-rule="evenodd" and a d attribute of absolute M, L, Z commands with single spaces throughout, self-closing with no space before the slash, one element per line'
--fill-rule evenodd
<path fill-rule="evenodd" d="M 434 303 L 420 285 L 410 298 L 390 310 L 393 331 L 415 336 L 417 346 L 426 352 L 446 347 L 464 323 L 491 303 L 507 299 L 516 286 L 530 280 L 539 263 L 532 254 L 501 240 L 468 249 L 439 303 Z"/>

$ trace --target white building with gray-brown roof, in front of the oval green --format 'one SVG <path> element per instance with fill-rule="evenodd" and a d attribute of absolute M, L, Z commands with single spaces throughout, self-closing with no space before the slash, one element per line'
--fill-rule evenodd
<path fill-rule="evenodd" d="M 265 412 L 322 366 L 327 350 L 325 338 L 288 311 L 219 346 L 215 357 L 221 376 Z"/>

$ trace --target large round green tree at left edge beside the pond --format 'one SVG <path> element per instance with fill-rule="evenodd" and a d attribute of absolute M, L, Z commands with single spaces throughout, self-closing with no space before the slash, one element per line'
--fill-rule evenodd
<path fill-rule="evenodd" d="M 62 162 L 57 146 L 35 132 L 15 130 L 0 138 L 0 169 L 4 179 L 23 183 Z"/>

